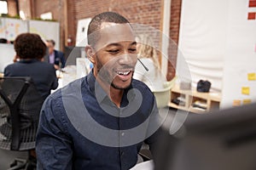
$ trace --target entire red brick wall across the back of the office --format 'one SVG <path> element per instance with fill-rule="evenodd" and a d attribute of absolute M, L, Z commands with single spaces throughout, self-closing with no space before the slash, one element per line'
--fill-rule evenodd
<path fill-rule="evenodd" d="M 67 2 L 67 14 L 65 11 Z M 67 45 L 67 37 L 75 44 L 78 20 L 91 18 L 103 11 L 113 11 L 124 15 L 131 23 L 153 26 L 161 30 L 162 10 L 164 0 L 20 0 L 20 10 L 26 12 L 30 18 L 39 18 L 40 14 L 51 12 L 53 19 L 60 22 L 61 50 Z M 178 41 L 180 9 L 182 0 L 172 0 L 170 37 Z M 15 0 L 8 0 L 9 12 L 15 15 Z M 170 48 L 171 62 L 168 64 L 167 79 L 175 75 L 177 48 Z"/>

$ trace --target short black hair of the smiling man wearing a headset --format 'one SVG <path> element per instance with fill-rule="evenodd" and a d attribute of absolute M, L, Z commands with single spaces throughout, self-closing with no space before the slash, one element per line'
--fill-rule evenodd
<path fill-rule="evenodd" d="M 112 22 L 117 24 L 130 23 L 129 20 L 125 19 L 124 16 L 114 12 L 103 12 L 101 14 L 96 14 L 96 16 L 94 16 L 90 20 L 90 24 L 88 26 L 87 40 L 89 45 L 94 46 L 96 44 L 96 41 L 98 40 L 99 35 L 94 32 L 101 29 L 103 22 Z"/>

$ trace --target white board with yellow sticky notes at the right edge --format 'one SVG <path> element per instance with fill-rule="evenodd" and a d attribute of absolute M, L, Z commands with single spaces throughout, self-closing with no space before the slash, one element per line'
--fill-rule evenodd
<path fill-rule="evenodd" d="M 247 20 L 248 3 L 229 0 L 222 107 L 234 101 L 244 105 L 247 99 L 256 102 L 256 80 L 247 79 L 248 73 L 256 74 L 256 20 Z M 242 88 L 249 88 L 249 94 L 242 93 Z"/>

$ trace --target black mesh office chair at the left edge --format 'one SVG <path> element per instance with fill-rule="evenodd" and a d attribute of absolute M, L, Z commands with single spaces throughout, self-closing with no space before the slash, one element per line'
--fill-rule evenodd
<path fill-rule="evenodd" d="M 15 159 L 10 169 L 36 169 L 32 150 L 44 100 L 30 77 L 0 77 L 0 96 L 0 148 L 29 153 L 27 160 Z"/>

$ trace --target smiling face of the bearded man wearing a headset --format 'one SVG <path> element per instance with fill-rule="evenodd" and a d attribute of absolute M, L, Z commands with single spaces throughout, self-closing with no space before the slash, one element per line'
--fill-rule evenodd
<path fill-rule="evenodd" d="M 129 87 L 137 63 L 137 42 L 131 26 L 102 23 L 94 57 L 96 77 L 113 88 Z"/>

